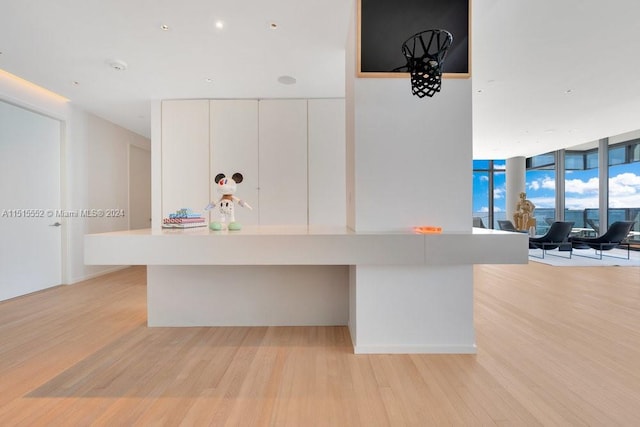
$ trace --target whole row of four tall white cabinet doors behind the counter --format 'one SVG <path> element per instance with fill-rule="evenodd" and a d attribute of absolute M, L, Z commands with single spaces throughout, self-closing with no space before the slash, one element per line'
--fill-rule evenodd
<path fill-rule="evenodd" d="M 163 218 L 201 211 L 215 176 L 240 172 L 241 224 L 345 225 L 343 99 L 170 100 L 161 123 Z"/>

